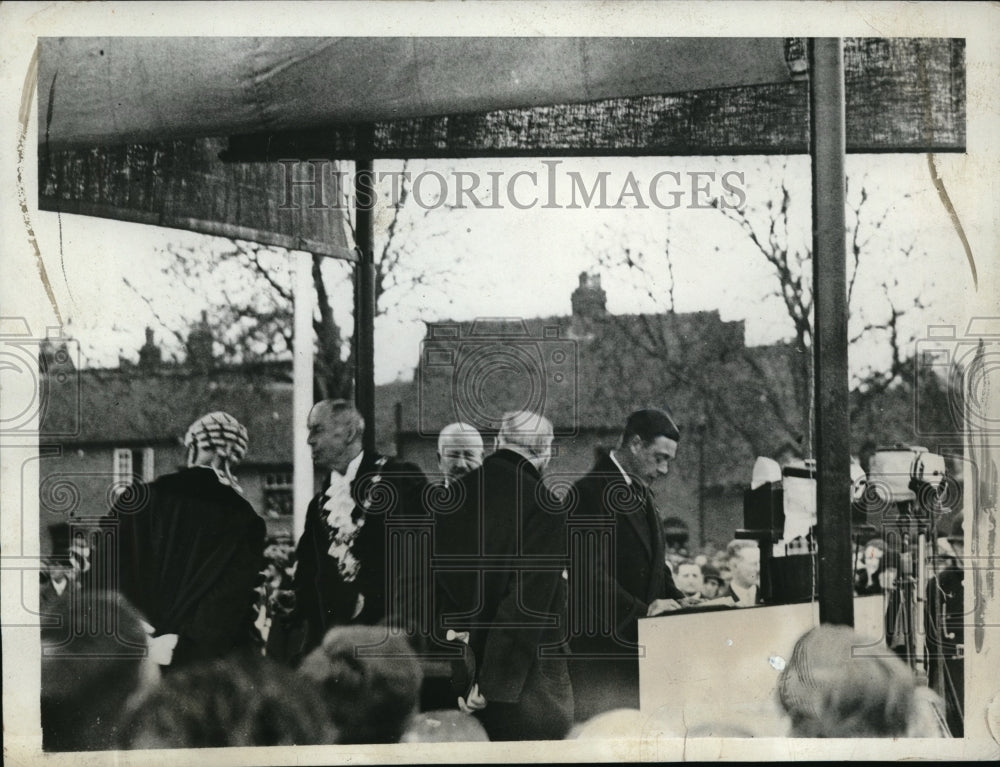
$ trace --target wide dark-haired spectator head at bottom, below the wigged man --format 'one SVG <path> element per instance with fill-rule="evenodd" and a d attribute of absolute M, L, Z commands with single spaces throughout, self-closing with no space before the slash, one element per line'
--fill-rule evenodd
<path fill-rule="evenodd" d="M 264 658 L 232 657 L 167 674 L 130 717 L 123 748 L 336 743 L 311 684 Z"/>

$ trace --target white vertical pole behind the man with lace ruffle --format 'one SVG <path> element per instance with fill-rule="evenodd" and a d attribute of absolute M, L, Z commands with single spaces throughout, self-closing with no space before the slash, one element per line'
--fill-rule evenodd
<path fill-rule="evenodd" d="M 306 507 L 313 496 L 312 454 L 306 444 L 306 419 L 313 404 L 313 307 L 316 291 L 312 284 L 312 255 L 294 251 L 295 271 L 295 353 L 292 368 L 292 504 L 293 533 L 298 541 L 305 529 Z"/>

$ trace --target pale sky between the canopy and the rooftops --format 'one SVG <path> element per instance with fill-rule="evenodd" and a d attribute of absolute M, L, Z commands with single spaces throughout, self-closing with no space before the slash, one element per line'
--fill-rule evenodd
<path fill-rule="evenodd" d="M 946 166 L 948 159 L 939 157 L 938 162 Z M 400 169 L 399 163 L 389 161 L 376 166 Z M 773 269 L 738 223 L 706 203 L 710 196 L 722 195 L 740 205 L 765 236 L 767 206 L 780 200 L 784 180 L 791 195 L 787 241 L 792 248 L 808 248 L 807 157 L 567 158 L 558 166 L 539 159 L 491 159 L 410 163 L 407 169 L 421 181 L 420 194 L 400 212 L 398 241 L 405 241 L 407 249 L 400 275 L 425 273 L 433 278 L 417 289 L 385 295 L 385 314 L 376 323 L 377 383 L 411 378 L 424 321 L 569 314 L 570 294 L 581 271 L 601 275 L 613 313 L 663 311 L 672 271 L 677 311 L 715 310 L 724 320 L 742 320 L 748 345 L 791 337 L 787 313 L 775 295 Z M 546 200 L 550 169 L 556 173 L 556 191 Z M 500 174 L 498 202 L 485 191 L 477 198 L 496 208 L 474 209 L 466 196 L 466 207 L 455 209 L 456 171 L 476 174 L 484 180 L 484 190 L 489 174 Z M 519 171 L 536 173 L 539 182 L 517 179 L 508 194 L 505 185 Z M 441 207 L 436 205 L 442 187 L 434 173 L 448 188 L 447 204 Z M 573 197 L 579 190 L 574 190 L 573 173 L 587 189 L 606 174 L 604 208 L 596 195 L 589 205 L 582 204 L 582 195 Z M 867 192 L 860 225 L 867 243 L 852 299 L 852 322 L 884 322 L 890 306 L 886 289 L 893 304 L 907 310 L 902 319 L 906 340 L 923 336 L 927 325 L 954 322 L 969 267 L 931 182 L 926 157 L 850 155 L 847 173 L 849 208 L 858 204 L 862 186 Z M 728 189 L 722 186 L 723 177 Z M 635 186 L 630 186 L 630 178 Z M 649 192 L 654 178 L 655 200 Z M 614 208 L 615 198 L 626 188 L 632 194 Z M 534 207 L 515 207 L 529 205 L 536 196 L 541 199 Z M 574 199 L 578 209 L 569 208 Z M 545 202 L 558 207 L 543 209 Z M 167 356 L 179 353 L 165 326 L 186 327 L 200 316 L 206 297 L 240 288 L 235 272 L 214 273 L 189 290 L 162 271 L 172 259 L 168 248 L 197 252 L 224 247 L 225 241 L 81 216 L 38 216 L 55 240 L 45 243 L 50 247 L 42 252 L 55 276 L 57 299 L 66 307 L 68 334 L 79 342 L 85 364 L 114 366 L 119 354 L 134 360 L 146 326 L 154 329 Z M 852 220 L 849 213 L 849 226 Z M 381 226 L 386 221 L 385 214 L 377 216 Z M 380 234 L 384 230 L 376 236 Z M 624 265 L 626 249 L 644 272 Z M 907 250 L 909 255 L 904 255 Z M 287 264 L 287 258 L 279 252 L 275 261 Z M 352 299 L 346 265 L 331 262 L 326 273 L 335 315 L 349 329 Z M 870 334 L 852 347 L 852 372 L 861 375 L 884 367 L 886 354 L 884 334 Z"/>

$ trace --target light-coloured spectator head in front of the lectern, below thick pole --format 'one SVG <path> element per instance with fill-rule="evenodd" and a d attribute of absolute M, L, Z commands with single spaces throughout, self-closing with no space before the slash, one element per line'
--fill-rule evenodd
<path fill-rule="evenodd" d="M 913 674 L 884 642 L 826 624 L 799 638 L 778 678 L 791 734 L 806 738 L 903 737 L 915 689 Z"/>

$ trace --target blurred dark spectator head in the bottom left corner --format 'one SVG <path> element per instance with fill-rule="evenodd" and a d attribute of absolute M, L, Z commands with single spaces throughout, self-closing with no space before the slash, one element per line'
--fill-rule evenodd
<path fill-rule="evenodd" d="M 120 717 L 158 675 L 142 618 L 113 592 L 67 592 L 43 606 L 41 720 L 46 751 L 114 748 Z"/>

